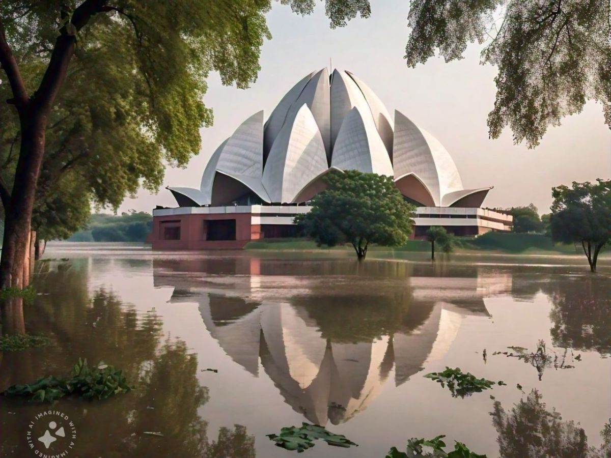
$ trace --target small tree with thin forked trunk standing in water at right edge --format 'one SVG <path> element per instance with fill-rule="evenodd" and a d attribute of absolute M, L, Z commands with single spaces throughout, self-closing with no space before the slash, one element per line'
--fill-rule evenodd
<path fill-rule="evenodd" d="M 611 180 L 576 183 L 552 188 L 552 239 L 564 243 L 581 243 L 590 270 L 596 272 L 596 261 L 611 238 Z"/>

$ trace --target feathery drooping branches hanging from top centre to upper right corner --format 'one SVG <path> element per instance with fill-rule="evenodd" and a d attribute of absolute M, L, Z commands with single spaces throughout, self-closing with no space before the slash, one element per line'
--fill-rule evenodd
<path fill-rule="evenodd" d="M 308 13 L 315 0 L 282 0 Z M 514 142 L 536 147 L 547 126 L 602 104 L 611 126 L 611 7 L 609 0 L 410 0 L 409 67 L 437 52 L 446 62 L 462 59 L 469 43 L 484 43 L 481 64 L 498 68 L 489 134 L 507 126 Z M 331 26 L 368 17 L 369 0 L 326 0 Z"/>

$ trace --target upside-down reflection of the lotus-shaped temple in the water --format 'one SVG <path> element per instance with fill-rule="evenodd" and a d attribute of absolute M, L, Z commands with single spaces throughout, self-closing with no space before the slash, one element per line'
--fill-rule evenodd
<path fill-rule="evenodd" d="M 262 368 L 318 424 L 348 421 L 389 378 L 398 387 L 441 358 L 467 315 L 488 316 L 483 297 L 511 290 L 510 274 L 475 267 L 444 272 L 440 286 L 430 264 L 247 256 L 214 264 L 155 261 L 155 285 L 174 286 L 170 302 L 197 302 L 225 353 L 254 376 Z"/>

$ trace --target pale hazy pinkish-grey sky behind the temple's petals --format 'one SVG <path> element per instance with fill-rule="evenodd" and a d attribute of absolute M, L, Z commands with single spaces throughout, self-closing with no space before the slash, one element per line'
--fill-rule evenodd
<path fill-rule="evenodd" d="M 210 154 L 241 122 L 261 109 L 267 118 L 285 92 L 311 71 L 329 67 L 330 58 L 334 68 L 367 83 L 391 115 L 398 109 L 436 136 L 452 154 L 466 188 L 494 186 L 483 206 L 532 202 L 547 213 L 552 186 L 611 178 L 611 131 L 600 105 L 588 103 L 579 115 L 550 128 L 534 150 L 513 145 L 509 129 L 490 140 L 486 117 L 494 104 L 496 68 L 479 65 L 478 45 L 470 46 L 463 60 L 445 64 L 434 57 L 408 68 L 403 60 L 407 15 L 408 2 L 378 2 L 369 19 L 331 30 L 323 3 L 305 17 L 274 3 L 268 14 L 273 39 L 263 45 L 257 82 L 240 90 L 210 75 L 204 101 L 214 110 L 214 125 L 202 129 L 202 149 L 186 169 L 166 169 L 164 186 L 199 187 Z M 141 190 L 119 211 L 150 212 L 155 205 L 176 202 L 166 189 L 157 195 Z"/>

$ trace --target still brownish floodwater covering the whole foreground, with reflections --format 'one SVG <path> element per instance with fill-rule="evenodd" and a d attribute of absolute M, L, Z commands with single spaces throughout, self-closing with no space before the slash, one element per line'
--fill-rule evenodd
<path fill-rule="evenodd" d="M 122 368 L 136 389 L 1 398 L 0 456 L 35 456 L 29 425 L 49 409 L 73 421 L 67 456 L 288 457 L 266 434 L 302 422 L 359 444 L 318 441 L 300 455 L 312 458 L 382 458 L 440 434 L 488 457 L 605 456 L 609 260 L 592 275 L 583 256 L 372 254 L 49 245 L 34 304 L 4 310 L 2 329 L 52 343 L 0 353 L 0 391 L 67 375 L 79 357 Z M 540 341 L 547 362 L 508 349 Z M 445 366 L 507 385 L 453 397 L 424 377 Z"/>

